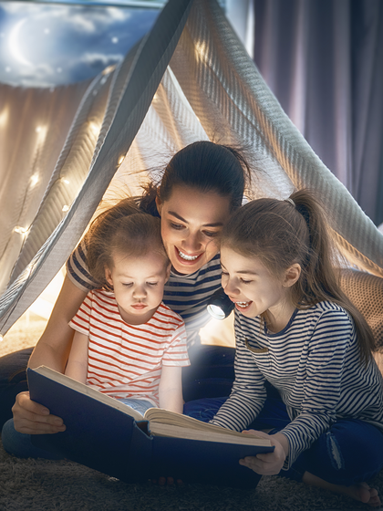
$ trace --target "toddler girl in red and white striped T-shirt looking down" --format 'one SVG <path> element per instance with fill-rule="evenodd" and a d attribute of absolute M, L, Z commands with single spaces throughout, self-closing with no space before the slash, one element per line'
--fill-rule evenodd
<path fill-rule="evenodd" d="M 171 263 L 160 219 L 125 199 L 91 224 L 89 291 L 69 325 L 75 336 L 65 373 L 140 413 L 182 413 L 181 367 L 189 365 L 183 320 L 162 303 Z"/>

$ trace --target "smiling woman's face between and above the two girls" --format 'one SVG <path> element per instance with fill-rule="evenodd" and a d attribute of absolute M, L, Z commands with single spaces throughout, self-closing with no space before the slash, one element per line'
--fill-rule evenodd
<path fill-rule="evenodd" d="M 171 265 L 191 274 L 219 251 L 223 224 L 230 214 L 230 198 L 203 193 L 191 186 L 174 186 L 169 200 L 156 201 L 163 245 Z"/>

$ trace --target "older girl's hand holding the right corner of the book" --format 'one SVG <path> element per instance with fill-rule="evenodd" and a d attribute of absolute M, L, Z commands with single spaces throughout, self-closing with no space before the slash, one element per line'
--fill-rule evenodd
<path fill-rule="evenodd" d="M 269 435 L 264 432 L 249 430 L 243 433 L 256 433 L 263 438 L 270 440 L 274 445 L 273 453 L 257 454 L 256 456 L 246 456 L 240 460 L 240 464 L 247 466 L 262 475 L 275 475 L 279 474 L 285 463 L 285 458 L 288 454 L 288 440 L 282 433 Z"/>

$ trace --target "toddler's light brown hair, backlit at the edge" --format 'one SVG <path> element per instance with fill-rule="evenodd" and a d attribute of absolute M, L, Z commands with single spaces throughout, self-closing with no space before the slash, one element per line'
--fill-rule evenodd
<path fill-rule="evenodd" d="M 170 264 L 160 235 L 160 218 L 143 213 L 137 199 L 119 201 L 98 215 L 85 238 L 89 273 L 100 287 L 110 289 L 105 269 L 113 267 L 113 255 L 140 256 L 154 253 Z"/>

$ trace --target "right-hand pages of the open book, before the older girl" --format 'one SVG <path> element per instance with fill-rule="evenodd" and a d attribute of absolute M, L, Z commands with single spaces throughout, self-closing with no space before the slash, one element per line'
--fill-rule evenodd
<path fill-rule="evenodd" d="M 226 431 L 228 430 L 223 430 L 223 432 Z M 269 440 L 265 438 L 255 438 L 254 435 L 247 433 L 217 433 L 215 431 L 202 431 L 181 426 L 174 426 L 171 424 L 162 424 L 160 422 L 150 422 L 150 433 L 155 436 L 171 436 L 172 438 L 186 438 L 189 440 L 200 440 L 204 442 L 236 443 L 241 445 L 271 445 Z"/>

